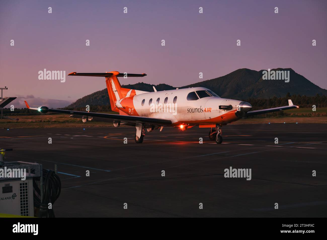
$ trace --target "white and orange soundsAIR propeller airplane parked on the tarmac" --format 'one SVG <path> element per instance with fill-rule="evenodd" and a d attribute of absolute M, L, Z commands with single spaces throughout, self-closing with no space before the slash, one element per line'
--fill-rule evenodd
<path fill-rule="evenodd" d="M 46 106 L 29 107 L 41 113 L 54 112 L 70 114 L 70 117 L 81 118 L 86 121 L 112 122 L 115 127 L 121 125 L 135 126 L 136 143 L 142 143 L 145 129 L 151 132 L 163 127 L 178 127 L 181 131 L 199 126 L 211 128 L 209 139 L 217 144 L 222 143 L 222 126 L 237 121 L 243 117 L 257 114 L 282 111 L 298 108 L 288 100 L 288 106 L 268 108 L 250 111 L 250 103 L 221 98 L 208 88 L 182 88 L 174 90 L 146 92 L 129 88 L 122 88 L 117 77 L 144 77 L 143 74 L 120 73 L 117 71 L 105 73 L 77 73 L 72 72 L 68 76 L 92 76 L 105 77 L 110 105 L 112 111 L 118 114 L 93 113 L 82 111 L 70 111 L 51 109 Z"/>

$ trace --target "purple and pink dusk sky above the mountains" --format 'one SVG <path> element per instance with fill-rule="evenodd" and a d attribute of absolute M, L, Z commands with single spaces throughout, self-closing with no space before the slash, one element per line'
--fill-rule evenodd
<path fill-rule="evenodd" d="M 180 87 L 240 68 L 292 68 L 326 89 L 326 10 L 319 0 L 0 0 L 0 87 L 15 107 L 63 107 L 105 79 L 40 80 L 39 71 L 146 73 L 120 82 Z"/>

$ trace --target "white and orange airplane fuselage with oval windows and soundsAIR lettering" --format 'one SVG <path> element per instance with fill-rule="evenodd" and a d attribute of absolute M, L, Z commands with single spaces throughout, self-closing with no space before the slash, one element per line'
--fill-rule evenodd
<path fill-rule="evenodd" d="M 209 96 L 210 92 L 212 92 L 210 89 L 201 87 L 146 92 L 121 99 L 119 104 L 122 107 L 119 110 L 121 114 L 131 116 L 169 119 L 174 126 L 180 124 L 227 124 L 240 119 L 235 112 L 244 102 Z M 228 109 L 219 109 L 219 106 L 229 107 Z"/>

